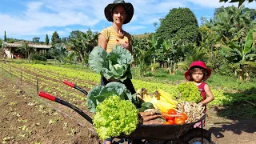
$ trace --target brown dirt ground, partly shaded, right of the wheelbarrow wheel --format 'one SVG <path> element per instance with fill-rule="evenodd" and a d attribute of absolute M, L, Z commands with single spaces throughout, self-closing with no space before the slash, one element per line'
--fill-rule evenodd
<path fill-rule="evenodd" d="M 256 118 L 222 118 L 217 116 L 216 108 L 211 108 L 208 113 L 210 116 L 206 120 L 206 129 L 218 138 L 218 143 L 256 144 Z"/>

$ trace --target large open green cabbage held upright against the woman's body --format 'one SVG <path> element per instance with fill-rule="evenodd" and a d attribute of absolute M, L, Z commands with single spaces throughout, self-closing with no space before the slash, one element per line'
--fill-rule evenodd
<path fill-rule="evenodd" d="M 114 46 L 109 54 L 101 46 L 95 46 L 89 54 L 89 66 L 98 74 L 110 80 L 124 81 L 132 78 L 130 64 L 133 56 L 122 46 Z"/>

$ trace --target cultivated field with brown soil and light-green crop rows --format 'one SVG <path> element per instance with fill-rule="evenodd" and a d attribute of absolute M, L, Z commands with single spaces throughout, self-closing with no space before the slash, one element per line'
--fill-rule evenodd
<path fill-rule="evenodd" d="M 74 82 L 86 91 L 98 85 L 99 75 L 71 70 L 56 66 L 25 65 L 1 63 L 0 77 L 0 140 L 2 143 L 101 143 L 93 131 L 93 126 L 70 108 L 56 102 L 50 102 L 37 95 L 38 90 L 70 102 L 78 106 L 86 114 L 86 96 L 69 86 L 62 84 L 64 79 Z M 74 74 L 74 71 L 77 73 Z M 73 75 L 72 75 L 73 72 Z M 22 79 L 21 79 L 22 77 Z M 134 79 L 135 88 L 140 85 L 149 91 L 166 88 L 173 92 L 175 86 L 164 83 L 143 82 Z M 169 86 L 169 87 L 168 87 Z M 235 108 L 238 112 L 250 103 L 242 102 Z M 236 118 L 219 116 L 230 107 L 211 106 L 208 110 L 206 129 L 211 130 L 219 143 L 255 143 L 256 118 Z M 240 111 L 239 111 L 240 110 Z M 246 109 L 245 109 L 246 110 Z"/>

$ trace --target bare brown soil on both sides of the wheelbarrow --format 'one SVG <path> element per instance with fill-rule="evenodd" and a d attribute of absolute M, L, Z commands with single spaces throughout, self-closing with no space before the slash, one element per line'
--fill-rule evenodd
<path fill-rule="evenodd" d="M 39 98 L 30 87 L 0 76 L 0 142 L 102 143 L 90 122 L 66 106 Z M 218 111 L 223 109 L 211 108 L 206 119 L 206 129 L 218 138 L 218 143 L 256 143 L 256 118 L 219 117 Z"/>

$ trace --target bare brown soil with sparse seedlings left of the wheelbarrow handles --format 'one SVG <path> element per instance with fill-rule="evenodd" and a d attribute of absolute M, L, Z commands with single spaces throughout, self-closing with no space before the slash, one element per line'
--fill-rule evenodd
<path fill-rule="evenodd" d="M 0 77 L 0 142 L 101 143 L 90 122 L 66 106 L 29 94 L 28 87 Z"/>

